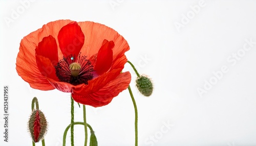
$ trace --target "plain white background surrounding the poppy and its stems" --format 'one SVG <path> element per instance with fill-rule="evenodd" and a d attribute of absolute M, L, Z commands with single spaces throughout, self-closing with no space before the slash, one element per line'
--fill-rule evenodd
<path fill-rule="evenodd" d="M 27 121 L 34 96 L 49 123 L 46 145 L 62 145 L 70 94 L 32 89 L 15 69 L 20 40 L 58 19 L 115 29 L 129 42 L 127 58 L 153 79 L 154 92 L 146 98 L 125 65 L 133 76 L 139 145 L 256 145 L 256 1 L 202 1 L 199 6 L 199 1 L 35 0 L 27 8 L 24 1 L 0 1 L 0 145 L 32 145 Z M 12 16 L 14 11 L 18 16 Z M 250 46 L 246 39 L 252 41 L 249 51 L 244 51 L 244 45 Z M 240 57 L 234 59 L 235 54 Z M 223 66 L 228 71 L 220 73 Z M 219 79 L 212 72 L 219 72 Z M 9 142 L 3 137 L 4 85 L 10 88 Z M 205 90 L 202 97 L 198 88 Z M 75 121 L 82 121 L 77 104 Z M 107 106 L 87 106 L 87 121 L 98 145 L 134 145 L 134 109 L 127 90 Z M 75 145 L 83 145 L 83 137 L 83 126 L 75 126 Z"/>

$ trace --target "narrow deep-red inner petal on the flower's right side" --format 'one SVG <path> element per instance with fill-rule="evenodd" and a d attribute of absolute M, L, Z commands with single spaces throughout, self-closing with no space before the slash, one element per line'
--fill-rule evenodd
<path fill-rule="evenodd" d="M 110 69 L 113 60 L 112 48 L 114 46 L 115 44 L 113 41 L 103 40 L 97 55 L 96 65 L 94 66 L 94 70 L 98 75 L 101 75 Z"/>

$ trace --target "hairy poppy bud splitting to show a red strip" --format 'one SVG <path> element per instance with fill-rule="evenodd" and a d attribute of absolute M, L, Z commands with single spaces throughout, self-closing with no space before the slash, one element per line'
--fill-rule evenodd
<path fill-rule="evenodd" d="M 44 139 L 47 126 L 48 124 L 44 113 L 39 109 L 33 110 L 28 121 L 28 129 L 34 142 L 39 142 L 41 139 Z"/>

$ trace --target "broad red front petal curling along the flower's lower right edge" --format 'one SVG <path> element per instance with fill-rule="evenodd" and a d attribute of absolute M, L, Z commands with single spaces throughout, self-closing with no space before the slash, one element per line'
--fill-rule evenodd
<path fill-rule="evenodd" d="M 80 104 L 93 107 L 108 105 L 115 96 L 129 86 L 130 82 L 130 72 L 123 72 L 96 92 L 89 94 L 83 92 L 81 94 L 72 93 L 72 98 Z"/>

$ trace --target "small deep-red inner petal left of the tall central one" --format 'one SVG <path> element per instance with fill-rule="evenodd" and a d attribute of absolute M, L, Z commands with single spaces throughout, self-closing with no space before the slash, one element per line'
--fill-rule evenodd
<path fill-rule="evenodd" d="M 55 38 L 51 35 L 44 37 L 42 41 L 38 43 L 38 47 L 35 49 L 35 53 L 36 55 L 49 58 L 54 66 L 58 63 L 57 43 Z"/>

